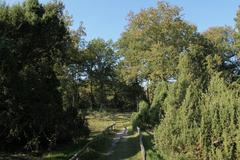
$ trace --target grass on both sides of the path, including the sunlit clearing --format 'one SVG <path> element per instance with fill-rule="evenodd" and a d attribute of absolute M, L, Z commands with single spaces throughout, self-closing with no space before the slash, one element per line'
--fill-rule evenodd
<path fill-rule="evenodd" d="M 87 116 L 89 128 L 91 130 L 91 134 L 88 140 L 82 141 L 80 144 L 66 144 L 63 146 L 58 146 L 51 152 L 44 153 L 40 159 L 43 160 L 66 160 L 69 159 L 72 155 L 74 155 L 77 151 L 79 151 L 84 144 L 88 141 L 92 140 L 94 137 L 101 134 L 101 132 L 108 127 L 109 125 L 116 123 L 115 131 L 119 132 L 123 130 L 124 127 L 129 128 L 128 136 L 125 136 L 125 140 L 121 140 L 116 146 L 113 148 L 113 152 L 109 154 L 109 151 L 112 149 L 112 139 L 115 136 L 114 134 L 110 134 L 104 136 L 100 140 L 94 142 L 83 155 L 81 155 L 80 159 L 84 160 L 93 160 L 93 159 L 101 159 L 101 160 L 118 160 L 118 159 L 128 159 L 128 160 L 138 160 L 141 159 L 141 151 L 139 145 L 139 137 L 136 132 L 133 132 L 130 124 L 130 113 L 118 113 L 118 112 L 91 112 Z M 154 144 L 152 143 L 153 136 L 149 133 L 143 133 L 143 143 L 147 153 L 147 159 L 161 159 L 161 157 L 154 158 Z M 37 160 L 36 156 L 32 156 L 31 154 L 17 154 L 17 155 L 7 155 L 0 160 Z M 155 156 L 156 157 L 156 156 Z"/>

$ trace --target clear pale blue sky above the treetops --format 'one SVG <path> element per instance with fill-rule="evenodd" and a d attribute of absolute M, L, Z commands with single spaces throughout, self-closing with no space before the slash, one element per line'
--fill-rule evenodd
<path fill-rule="evenodd" d="M 24 0 L 5 0 L 7 4 Z M 46 3 L 50 0 L 39 0 Z M 116 41 L 127 26 L 129 11 L 139 12 L 154 7 L 157 0 L 62 0 L 73 17 L 73 29 L 82 21 L 86 27 L 86 40 L 93 38 Z M 233 26 L 240 0 L 165 0 L 183 8 L 185 20 L 195 24 L 199 32 L 214 26 Z"/>

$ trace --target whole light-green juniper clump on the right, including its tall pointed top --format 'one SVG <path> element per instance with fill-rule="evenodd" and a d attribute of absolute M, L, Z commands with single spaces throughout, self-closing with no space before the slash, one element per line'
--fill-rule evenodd
<path fill-rule="evenodd" d="M 211 52 L 191 46 L 180 59 L 178 79 L 164 101 L 165 117 L 155 130 L 164 158 L 238 157 L 238 85 L 228 86 L 223 73 L 208 70 L 206 53 Z"/>

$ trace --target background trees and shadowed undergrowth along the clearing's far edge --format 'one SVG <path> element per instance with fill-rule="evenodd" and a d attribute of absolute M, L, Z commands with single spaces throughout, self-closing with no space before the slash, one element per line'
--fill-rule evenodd
<path fill-rule="evenodd" d="M 117 107 L 132 110 L 144 97 L 138 83 L 126 84 L 119 72 L 119 56 L 111 41 L 102 39 L 90 41 L 80 55 L 83 60 L 78 66 L 78 80 L 84 92 L 85 106 L 90 108 Z M 75 70 L 76 71 L 76 70 Z"/>

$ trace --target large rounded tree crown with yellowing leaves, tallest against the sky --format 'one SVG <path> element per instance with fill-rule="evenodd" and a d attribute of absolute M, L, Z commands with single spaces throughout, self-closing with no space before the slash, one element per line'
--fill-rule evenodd
<path fill-rule="evenodd" d="M 128 27 L 119 40 L 126 80 L 155 83 L 176 77 L 179 56 L 197 35 L 196 27 L 185 22 L 180 11 L 159 2 L 155 8 L 130 13 Z"/>

